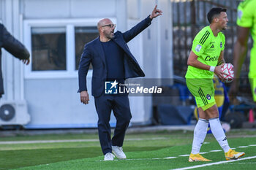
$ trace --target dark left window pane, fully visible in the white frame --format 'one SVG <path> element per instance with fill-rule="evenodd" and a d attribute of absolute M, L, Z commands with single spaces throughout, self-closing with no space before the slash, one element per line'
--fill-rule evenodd
<path fill-rule="evenodd" d="M 66 28 L 31 28 L 32 71 L 66 70 Z"/>

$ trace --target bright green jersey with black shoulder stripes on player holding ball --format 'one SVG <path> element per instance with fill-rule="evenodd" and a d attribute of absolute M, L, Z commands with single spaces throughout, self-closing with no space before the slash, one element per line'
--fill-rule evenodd
<path fill-rule="evenodd" d="M 192 45 L 192 52 L 198 56 L 197 60 L 208 66 L 217 66 L 219 55 L 225 48 L 225 35 L 219 32 L 214 36 L 210 26 L 203 28 L 196 36 Z M 186 78 L 214 78 L 214 72 L 188 66 Z"/>

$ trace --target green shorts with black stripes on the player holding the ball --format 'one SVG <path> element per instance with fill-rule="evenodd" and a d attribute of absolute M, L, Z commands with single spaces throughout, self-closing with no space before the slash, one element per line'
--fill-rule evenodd
<path fill-rule="evenodd" d="M 214 99 L 214 82 L 212 79 L 186 79 L 187 88 L 195 97 L 197 107 L 201 107 L 203 111 L 216 104 Z"/>

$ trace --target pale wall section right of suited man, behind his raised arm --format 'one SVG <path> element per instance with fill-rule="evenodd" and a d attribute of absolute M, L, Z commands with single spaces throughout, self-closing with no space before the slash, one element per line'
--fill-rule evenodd
<path fill-rule="evenodd" d="M 132 27 L 150 15 L 156 4 L 157 8 L 163 11 L 163 15 L 152 20 L 151 26 L 129 42 L 129 47 L 146 74 L 146 77 L 143 78 L 153 79 L 154 83 L 158 83 L 154 85 L 162 85 L 162 78 L 171 79 L 173 77 L 170 1 L 128 0 L 128 26 Z M 134 118 L 133 123 L 151 123 L 151 96 L 129 98 Z"/>

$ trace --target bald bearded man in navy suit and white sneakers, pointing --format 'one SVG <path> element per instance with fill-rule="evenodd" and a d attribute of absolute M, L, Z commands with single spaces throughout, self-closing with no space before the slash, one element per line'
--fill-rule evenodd
<path fill-rule="evenodd" d="M 122 145 L 125 131 L 132 118 L 128 96 L 104 94 L 105 82 L 113 81 L 111 84 L 114 87 L 116 83 L 123 83 L 127 78 L 145 76 L 135 57 L 130 52 L 127 42 L 150 26 L 151 20 L 159 15 L 162 15 L 162 11 L 157 9 L 156 6 L 151 15 L 136 26 L 124 33 L 116 31 L 115 34 L 116 25 L 110 19 L 99 20 L 97 25 L 99 37 L 87 43 L 84 47 L 78 69 L 78 92 L 80 92 L 80 101 L 83 104 L 88 104 L 89 95 L 86 87 L 86 76 L 91 63 L 93 66 L 91 91 L 99 117 L 99 142 L 105 155 L 104 161 L 113 161 L 114 155 L 112 152 L 117 158 L 127 158 L 123 152 Z M 116 128 L 112 139 L 110 139 L 109 124 L 111 110 L 113 110 L 116 117 Z"/>

